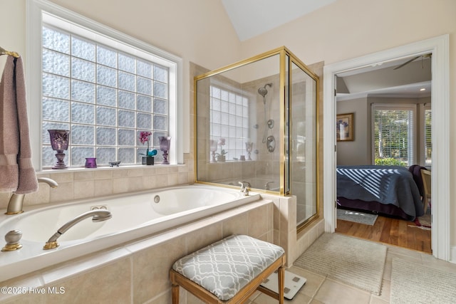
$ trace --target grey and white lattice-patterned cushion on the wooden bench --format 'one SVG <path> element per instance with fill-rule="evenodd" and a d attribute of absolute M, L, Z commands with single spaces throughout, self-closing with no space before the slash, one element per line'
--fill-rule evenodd
<path fill-rule="evenodd" d="M 234 235 L 180 258 L 172 269 L 229 300 L 284 253 L 280 246 Z"/>

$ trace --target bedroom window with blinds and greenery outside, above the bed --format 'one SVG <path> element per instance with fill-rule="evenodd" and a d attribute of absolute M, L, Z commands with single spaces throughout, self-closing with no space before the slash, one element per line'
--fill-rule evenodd
<path fill-rule="evenodd" d="M 375 164 L 415 163 L 415 105 L 373 105 Z"/>

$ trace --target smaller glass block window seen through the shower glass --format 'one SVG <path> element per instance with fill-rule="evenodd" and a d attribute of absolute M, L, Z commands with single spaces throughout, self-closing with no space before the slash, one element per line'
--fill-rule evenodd
<path fill-rule="evenodd" d="M 217 147 L 217 153 L 224 150 L 227 160 L 239 159 L 247 153 L 245 143 L 249 142 L 249 99 L 215 85 L 211 85 L 210 99 L 210 138 L 225 144 Z"/>

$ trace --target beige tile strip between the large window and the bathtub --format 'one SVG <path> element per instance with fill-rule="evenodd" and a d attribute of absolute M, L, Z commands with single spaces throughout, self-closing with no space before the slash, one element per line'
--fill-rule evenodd
<path fill-rule="evenodd" d="M 26 194 L 24 206 L 92 199 L 189 184 L 195 180 L 193 162 L 188 156 L 185 164 L 45 170 L 37 172 L 36 176 L 54 179 L 58 187 L 51 189 L 47 184 L 38 184 L 38 192 Z M 0 193 L 0 209 L 6 209 L 9 196 L 9 193 Z"/>

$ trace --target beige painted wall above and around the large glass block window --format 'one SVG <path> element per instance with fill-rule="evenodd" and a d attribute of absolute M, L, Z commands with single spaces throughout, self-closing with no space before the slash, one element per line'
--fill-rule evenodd
<path fill-rule="evenodd" d="M 240 42 L 221 1 L 51 0 L 94 21 L 180 56 L 184 63 L 184 130 L 190 130 L 190 62 L 209 70 L 239 61 Z M 26 54 L 26 0 L 0 0 L 0 46 Z M 190 152 L 190 136 L 185 136 Z"/>

